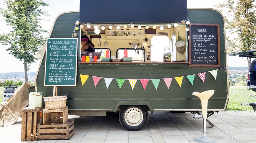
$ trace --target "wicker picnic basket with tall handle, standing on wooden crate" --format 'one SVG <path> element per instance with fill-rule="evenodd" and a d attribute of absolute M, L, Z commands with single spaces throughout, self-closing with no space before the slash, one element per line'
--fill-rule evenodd
<path fill-rule="evenodd" d="M 56 96 L 55 96 L 56 94 Z M 62 109 L 66 107 L 67 95 L 58 96 L 57 87 L 53 88 L 53 97 L 43 97 L 46 109 Z"/>

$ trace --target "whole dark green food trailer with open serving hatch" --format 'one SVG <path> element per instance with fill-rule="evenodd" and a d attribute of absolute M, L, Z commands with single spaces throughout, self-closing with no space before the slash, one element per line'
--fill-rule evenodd
<path fill-rule="evenodd" d="M 81 51 L 84 35 L 94 52 Z M 201 112 L 194 91 L 215 90 L 213 114 L 228 103 L 228 45 L 223 15 L 188 9 L 187 0 L 80 0 L 80 11 L 56 18 L 37 55 L 35 90 L 52 96 L 57 86 L 71 115 L 118 112 L 128 130 L 145 127 L 149 112 Z"/>

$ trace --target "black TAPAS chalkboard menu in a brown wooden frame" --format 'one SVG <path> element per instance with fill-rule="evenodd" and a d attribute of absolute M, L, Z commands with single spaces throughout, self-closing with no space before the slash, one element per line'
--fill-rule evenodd
<path fill-rule="evenodd" d="M 220 66 L 219 24 L 190 24 L 190 66 Z"/>

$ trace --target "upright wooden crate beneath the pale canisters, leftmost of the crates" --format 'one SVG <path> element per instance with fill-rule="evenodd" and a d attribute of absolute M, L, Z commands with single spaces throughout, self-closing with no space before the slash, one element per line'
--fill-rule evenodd
<path fill-rule="evenodd" d="M 43 122 L 43 115 L 40 117 L 40 112 L 45 107 L 38 107 L 35 109 L 22 109 L 21 120 L 21 141 L 36 141 L 37 140 L 37 124 Z"/>

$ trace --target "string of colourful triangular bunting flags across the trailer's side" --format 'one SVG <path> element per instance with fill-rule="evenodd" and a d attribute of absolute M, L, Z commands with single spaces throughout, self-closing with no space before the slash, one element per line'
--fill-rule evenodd
<path fill-rule="evenodd" d="M 224 67 L 224 68 L 226 68 L 226 67 Z M 220 68 L 220 69 L 223 69 L 223 68 Z M 216 80 L 218 70 L 219 69 L 211 70 L 211 71 L 207 71 L 207 72 L 209 72 L 214 77 L 214 79 Z M 201 81 L 204 83 L 205 73 L 207 73 L 207 72 L 202 72 L 202 73 L 197 73 L 197 74 L 192 74 L 192 75 L 186 75 L 186 76 L 180 76 L 180 77 L 161 78 L 161 79 L 164 80 L 167 88 L 169 89 L 170 86 L 171 86 L 172 79 L 175 78 L 176 82 L 178 83 L 178 85 L 181 88 L 184 77 L 187 77 L 187 79 L 193 85 L 194 77 L 195 77 L 195 75 L 198 75 L 199 78 L 201 79 Z M 91 75 L 83 75 L 83 74 L 79 74 L 79 75 L 80 75 L 80 78 L 81 78 L 82 86 L 87 81 L 88 77 L 91 76 Z M 94 83 L 94 87 L 95 88 L 96 88 L 97 84 L 99 83 L 100 79 L 104 78 L 107 89 L 108 89 L 110 83 L 112 82 L 112 80 L 115 79 L 119 89 L 121 89 L 121 87 L 124 84 L 124 82 L 126 80 L 128 80 L 130 85 L 131 85 L 131 88 L 133 90 L 135 85 L 136 85 L 136 83 L 137 83 L 137 81 L 140 80 L 140 82 L 142 84 L 142 87 L 145 90 L 147 85 L 148 85 L 149 80 L 151 80 L 153 85 L 154 85 L 154 87 L 155 87 L 155 89 L 157 90 L 157 88 L 159 86 L 159 83 L 160 83 L 160 80 L 161 80 L 161 79 L 117 79 L 117 78 L 107 78 L 107 77 L 98 77 L 98 76 L 91 76 L 91 77 L 93 79 L 93 83 Z"/>

